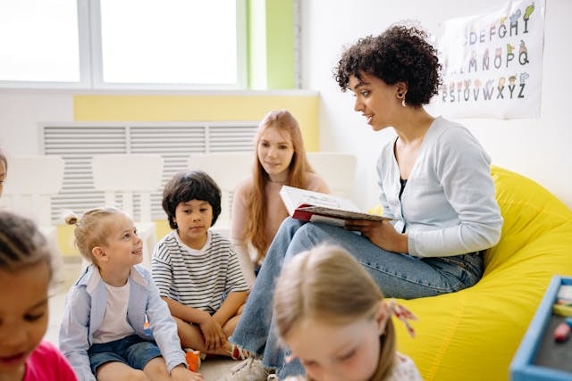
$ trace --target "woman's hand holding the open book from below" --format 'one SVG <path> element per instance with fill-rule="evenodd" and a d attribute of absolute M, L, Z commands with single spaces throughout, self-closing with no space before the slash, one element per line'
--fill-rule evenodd
<path fill-rule="evenodd" d="M 361 232 L 372 244 L 394 253 L 408 253 L 408 235 L 398 233 L 388 221 L 370 221 L 369 219 L 347 220 L 346 230 Z"/>

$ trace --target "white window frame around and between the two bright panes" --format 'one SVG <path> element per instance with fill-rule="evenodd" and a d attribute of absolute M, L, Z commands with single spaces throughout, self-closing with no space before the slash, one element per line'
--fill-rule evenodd
<path fill-rule="evenodd" d="M 235 0 L 237 10 L 237 83 L 236 84 L 147 84 L 109 83 L 103 80 L 101 13 L 99 0 L 76 0 L 80 81 L 6 81 L 0 89 L 72 89 L 72 90 L 246 90 L 248 89 L 247 0 Z"/>

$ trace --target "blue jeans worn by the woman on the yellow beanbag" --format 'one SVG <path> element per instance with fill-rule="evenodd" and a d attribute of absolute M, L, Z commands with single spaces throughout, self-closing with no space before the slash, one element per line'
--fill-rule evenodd
<path fill-rule="evenodd" d="M 478 253 L 421 259 L 386 252 L 367 238 L 343 228 L 284 219 L 231 337 L 234 344 L 262 355 L 265 368 L 276 369 L 281 379 L 305 372 L 299 360 L 286 363 L 288 350 L 278 344 L 272 315 L 274 281 L 285 261 L 324 243 L 344 247 L 387 297 L 413 299 L 451 293 L 475 285 L 483 275 L 483 259 Z"/>

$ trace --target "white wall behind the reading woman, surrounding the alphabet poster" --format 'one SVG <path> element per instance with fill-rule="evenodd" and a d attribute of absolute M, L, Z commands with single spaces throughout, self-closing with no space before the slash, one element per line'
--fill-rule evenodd
<path fill-rule="evenodd" d="M 532 0 L 531 0 L 532 2 Z M 302 3 L 302 84 L 321 94 L 320 148 L 356 153 L 358 186 L 354 191 L 363 208 L 377 203 L 374 162 L 391 128 L 374 133 L 353 112 L 353 97 L 341 93 L 332 68 L 343 46 L 357 38 L 379 34 L 392 23 L 417 20 L 432 33 L 439 22 L 496 9 L 499 0 L 312 0 Z M 572 88 L 569 20 L 572 1 L 546 0 L 543 94 L 538 120 L 463 119 L 493 164 L 533 178 L 572 208 Z M 432 107 L 429 112 L 434 114 Z M 443 115 L 447 117 L 447 115 Z M 365 195 L 365 198 L 357 195 Z"/>

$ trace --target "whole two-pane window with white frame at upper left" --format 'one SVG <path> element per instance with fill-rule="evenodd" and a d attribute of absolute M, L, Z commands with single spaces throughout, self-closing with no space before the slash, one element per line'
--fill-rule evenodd
<path fill-rule="evenodd" d="M 0 87 L 243 88 L 245 0 L 2 0 Z"/>

